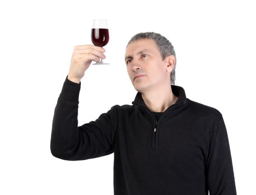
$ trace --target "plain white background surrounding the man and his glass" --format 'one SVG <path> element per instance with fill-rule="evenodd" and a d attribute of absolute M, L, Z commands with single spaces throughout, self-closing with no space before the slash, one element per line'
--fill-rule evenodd
<path fill-rule="evenodd" d="M 176 85 L 218 109 L 228 130 L 238 194 L 255 188 L 254 1 L 1 1 L 0 194 L 113 194 L 114 154 L 70 162 L 50 153 L 52 117 L 75 45 L 91 44 L 94 18 L 108 19 L 110 65 L 81 80 L 79 125 L 136 90 L 124 64 L 138 32 L 167 37 Z"/>

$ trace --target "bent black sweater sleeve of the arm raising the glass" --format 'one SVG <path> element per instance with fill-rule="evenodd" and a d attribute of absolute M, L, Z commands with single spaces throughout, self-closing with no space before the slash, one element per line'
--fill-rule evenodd
<path fill-rule="evenodd" d="M 114 106 L 95 121 L 78 126 L 80 86 L 81 82 L 76 84 L 66 77 L 52 120 L 51 153 L 64 160 L 85 160 L 114 152 Z"/>

